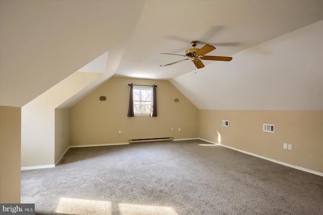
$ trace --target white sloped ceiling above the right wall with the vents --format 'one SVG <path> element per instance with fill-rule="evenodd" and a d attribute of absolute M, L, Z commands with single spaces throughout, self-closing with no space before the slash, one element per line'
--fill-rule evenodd
<path fill-rule="evenodd" d="M 174 78 L 204 110 L 323 110 L 323 21 Z"/>

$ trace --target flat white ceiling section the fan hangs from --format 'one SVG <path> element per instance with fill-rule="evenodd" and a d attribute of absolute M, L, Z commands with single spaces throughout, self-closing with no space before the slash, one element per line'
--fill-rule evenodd
<path fill-rule="evenodd" d="M 147 1 L 116 74 L 172 79 L 194 70 L 194 64 L 159 67 L 184 59 L 160 53 L 185 55 L 191 40 L 238 43 L 215 44 L 217 49 L 208 53 L 232 56 L 321 19 L 322 1 Z"/>

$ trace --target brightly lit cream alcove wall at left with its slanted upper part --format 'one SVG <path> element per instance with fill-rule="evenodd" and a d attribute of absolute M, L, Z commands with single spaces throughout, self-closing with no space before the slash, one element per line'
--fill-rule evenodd
<path fill-rule="evenodd" d="M 21 167 L 55 164 L 55 109 L 101 75 L 75 72 L 22 107 Z"/>

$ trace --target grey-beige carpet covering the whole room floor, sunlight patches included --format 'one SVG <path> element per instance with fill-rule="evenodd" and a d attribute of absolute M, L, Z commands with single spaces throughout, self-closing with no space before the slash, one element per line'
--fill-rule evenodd
<path fill-rule="evenodd" d="M 21 172 L 36 214 L 323 214 L 323 177 L 201 140 L 70 148 Z"/>

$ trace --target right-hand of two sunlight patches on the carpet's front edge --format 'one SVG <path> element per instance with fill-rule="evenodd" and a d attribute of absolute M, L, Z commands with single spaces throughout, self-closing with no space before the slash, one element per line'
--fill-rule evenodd
<path fill-rule="evenodd" d="M 178 215 L 173 207 L 143 204 L 118 204 L 121 215 Z"/>

